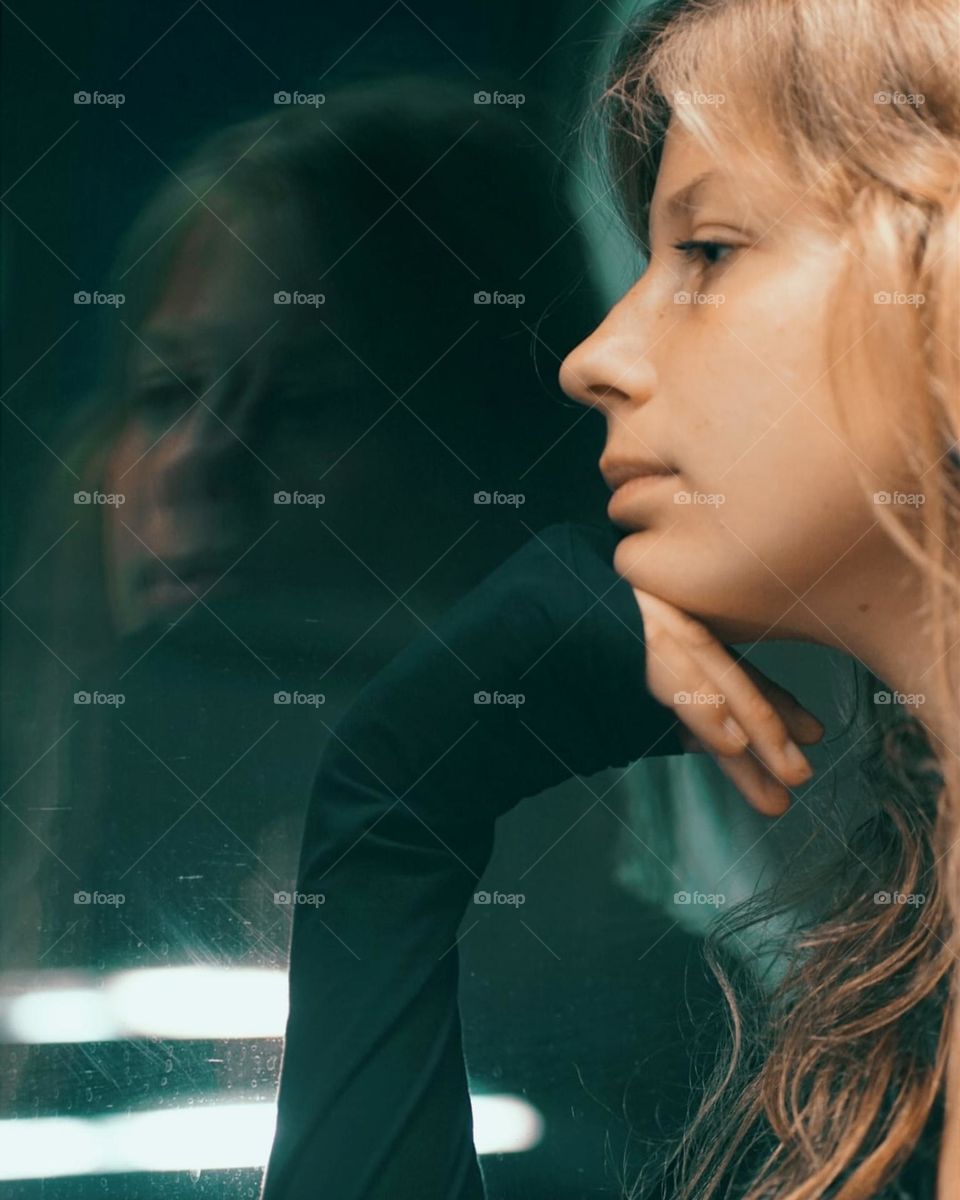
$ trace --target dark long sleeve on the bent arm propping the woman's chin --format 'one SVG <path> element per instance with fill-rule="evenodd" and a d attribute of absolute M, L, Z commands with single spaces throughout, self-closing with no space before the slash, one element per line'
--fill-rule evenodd
<path fill-rule="evenodd" d="M 496 818 L 680 754 L 612 526 L 551 526 L 360 694 L 323 754 L 263 1200 L 482 1200 L 457 928 Z"/>

